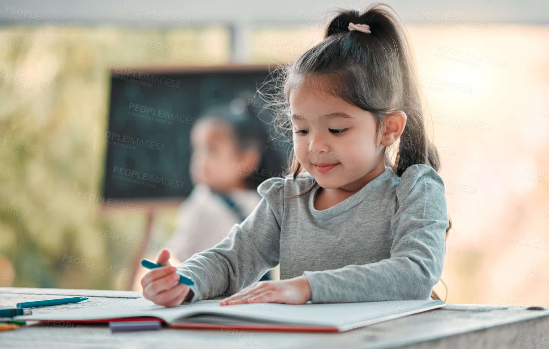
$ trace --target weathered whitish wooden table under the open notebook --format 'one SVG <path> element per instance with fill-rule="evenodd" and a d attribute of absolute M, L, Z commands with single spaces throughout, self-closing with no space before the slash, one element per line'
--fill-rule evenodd
<path fill-rule="evenodd" d="M 33 313 L 141 297 L 140 292 L 0 287 L 0 307 L 85 296 L 87 301 L 33 308 Z M 0 332 L 0 348 L 539 348 L 549 349 L 549 307 L 453 304 L 344 333 L 191 330 L 110 332 L 107 324 L 34 322 Z"/>

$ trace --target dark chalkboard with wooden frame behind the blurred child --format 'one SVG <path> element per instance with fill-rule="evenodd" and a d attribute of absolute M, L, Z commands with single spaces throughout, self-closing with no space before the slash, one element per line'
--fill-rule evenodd
<path fill-rule="evenodd" d="M 227 105 L 234 98 L 247 101 L 247 110 L 265 121 L 269 110 L 257 114 L 264 104 L 257 86 L 270 79 L 267 67 L 217 67 L 188 71 L 152 71 L 111 67 L 109 123 L 97 130 L 107 143 L 103 196 L 105 198 L 186 197 L 192 190 L 189 174 L 190 131 L 205 110 Z M 255 96 L 254 96 L 255 95 Z M 269 156 L 281 164 L 257 184 L 282 174 L 287 168 L 289 144 L 272 139 Z"/>

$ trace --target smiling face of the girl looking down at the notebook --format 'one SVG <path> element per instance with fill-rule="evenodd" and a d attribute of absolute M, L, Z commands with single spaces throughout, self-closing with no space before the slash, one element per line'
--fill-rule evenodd
<path fill-rule="evenodd" d="M 406 116 L 402 130 L 388 120 L 393 127 L 375 141 L 372 113 L 310 85 L 289 95 L 295 156 L 321 187 L 358 191 L 385 170 L 383 148 L 398 139 Z"/>

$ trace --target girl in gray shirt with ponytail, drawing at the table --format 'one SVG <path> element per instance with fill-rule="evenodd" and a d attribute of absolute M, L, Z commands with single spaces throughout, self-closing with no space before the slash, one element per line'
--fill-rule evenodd
<path fill-rule="evenodd" d="M 213 248 L 177 267 L 162 251 L 165 267 L 141 280 L 145 298 L 167 307 L 220 295 L 221 305 L 429 298 L 451 225 L 411 48 L 390 10 L 341 10 L 283 70 L 285 101 L 270 106 L 293 132 L 291 175 L 259 185 L 257 207 Z M 392 164 L 386 148 L 396 146 Z M 280 280 L 257 282 L 278 263 Z M 176 270 L 195 284 L 178 284 Z"/>

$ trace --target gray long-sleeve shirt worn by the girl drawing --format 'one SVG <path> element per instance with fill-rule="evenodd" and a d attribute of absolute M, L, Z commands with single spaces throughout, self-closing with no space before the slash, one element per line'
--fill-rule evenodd
<path fill-rule="evenodd" d="M 444 182 L 428 165 L 391 168 L 324 210 L 311 175 L 270 178 L 261 201 L 229 235 L 177 269 L 194 280 L 190 302 L 228 296 L 280 263 L 280 279 L 305 274 L 313 303 L 427 299 L 439 281 L 448 218 Z"/>

